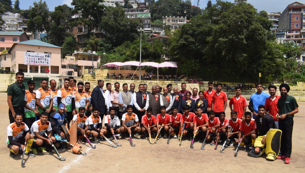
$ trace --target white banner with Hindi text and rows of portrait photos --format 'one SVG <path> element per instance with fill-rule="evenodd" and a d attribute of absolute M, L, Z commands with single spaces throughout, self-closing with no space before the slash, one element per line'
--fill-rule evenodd
<path fill-rule="evenodd" d="M 24 52 L 25 65 L 51 66 L 50 53 Z"/>

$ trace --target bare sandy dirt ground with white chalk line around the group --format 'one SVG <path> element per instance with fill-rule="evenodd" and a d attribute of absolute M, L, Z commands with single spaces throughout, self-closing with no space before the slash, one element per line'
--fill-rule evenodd
<path fill-rule="evenodd" d="M 224 153 L 220 153 L 221 145 L 217 150 L 214 146 L 207 144 L 205 150 L 200 150 L 201 142 L 194 143 L 194 149 L 190 148 L 190 141 L 182 139 L 179 146 L 178 139 L 159 139 L 156 144 L 149 144 L 147 139 L 136 137 L 133 139 L 135 147 L 129 144 L 129 138 L 119 139 L 121 147 L 113 148 L 106 140 L 99 140 L 95 143 L 96 149 L 90 148 L 88 143 L 83 143 L 82 149 L 87 156 L 72 153 L 71 149 L 61 153 L 66 157 L 65 161 L 60 161 L 56 154 L 42 154 L 38 151 L 36 157 L 25 157 L 25 168 L 21 168 L 21 154 L 16 154 L 15 158 L 9 157 L 9 150 L 6 145 L 6 128 L 9 125 L 8 105 L 6 93 L 0 93 L 0 116 L 3 125 L 0 127 L 0 172 L 32 172 L 33 170 L 48 169 L 52 172 L 305 172 L 305 137 L 303 122 L 305 116 L 305 103 L 299 102 L 299 113 L 294 117 L 293 147 L 291 164 L 284 164 L 283 160 L 267 161 L 266 155 L 259 158 L 247 156 L 247 151 L 239 150 L 238 156 L 234 157 L 235 147 L 229 146 Z M 228 104 L 229 105 L 229 104 Z M 229 118 L 230 108 L 226 109 L 226 118 Z M 152 139 L 153 140 L 153 139 Z M 112 140 L 115 143 L 114 140 Z M 95 165 L 95 163 L 97 163 Z M 254 166 L 255 165 L 255 166 Z"/>

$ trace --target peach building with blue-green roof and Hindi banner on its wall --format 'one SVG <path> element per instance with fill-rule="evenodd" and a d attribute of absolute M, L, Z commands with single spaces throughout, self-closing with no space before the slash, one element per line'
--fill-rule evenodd
<path fill-rule="evenodd" d="M 60 59 L 59 46 L 36 39 L 21 41 L 14 43 L 8 53 L 0 55 L 1 72 L 23 72 L 25 84 L 30 79 L 40 81 L 41 78 L 51 78 L 59 82 Z M 49 73 L 47 69 L 50 70 Z"/>

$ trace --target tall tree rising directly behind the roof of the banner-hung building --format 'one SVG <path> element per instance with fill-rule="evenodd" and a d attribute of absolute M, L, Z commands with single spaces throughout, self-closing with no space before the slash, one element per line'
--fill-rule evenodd
<path fill-rule="evenodd" d="M 47 37 L 46 40 L 49 39 L 50 32 L 50 12 L 48 9 L 48 5 L 46 2 L 33 2 L 34 7 L 30 6 L 29 8 L 29 19 L 27 21 L 27 27 L 30 31 L 46 31 Z"/>

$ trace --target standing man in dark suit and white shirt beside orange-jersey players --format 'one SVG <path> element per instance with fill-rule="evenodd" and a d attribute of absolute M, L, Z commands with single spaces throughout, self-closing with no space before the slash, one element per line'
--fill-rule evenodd
<path fill-rule="evenodd" d="M 107 106 L 105 102 L 106 95 L 103 90 L 103 86 L 104 86 L 104 81 L 99 80 L 97 82 L 97 86 L 92 90 L 91 93 L 91 104 L 93 107 L 99 108 L 99 112 L 100 112 L 99 116 L 101 117 L 101 119 L 103 119 L 105 112 L 106 115 L 108 115 L 108 111 L 106 110 Z"/>

